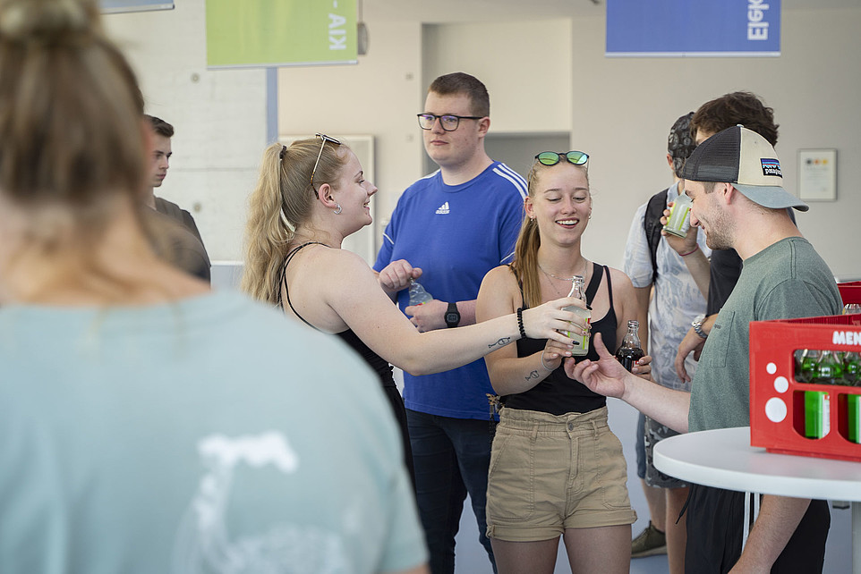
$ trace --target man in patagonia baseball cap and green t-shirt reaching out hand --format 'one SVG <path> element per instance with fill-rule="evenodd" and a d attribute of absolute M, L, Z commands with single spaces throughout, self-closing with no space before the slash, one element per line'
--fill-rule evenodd
<path fill-rule="evenodd" d="M 711 249 L 736 249 L 744 267 L 706 340 L 692 393 L 631 376 L 595 338 L 599 362 L 566 361 L 568 376 L 627 401 L 679 432 L 750 424 L 751 321 L 840 314 L 831 270 L 789 218 L 807 206 L 783 189 L 780 160 L 743 126 L 703 141 L 681 176 L 691 224 Z M 687 508 L 688 572 L 821 572 L 830 516 L 824 501 L 763 496 L 742 552 L 745 494 L 694 485 Z"/>

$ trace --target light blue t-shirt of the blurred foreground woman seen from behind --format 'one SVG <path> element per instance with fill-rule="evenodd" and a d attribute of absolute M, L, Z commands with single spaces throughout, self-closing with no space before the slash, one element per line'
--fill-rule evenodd
<path fill-rule="evenodd" d="M 379 382 L 236 293 L 0 309 L 0 572 L 339 572 L 427 553 Z"/>

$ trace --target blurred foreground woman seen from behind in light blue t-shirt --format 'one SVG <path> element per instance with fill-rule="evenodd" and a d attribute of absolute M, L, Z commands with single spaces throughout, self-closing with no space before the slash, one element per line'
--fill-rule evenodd
<path fill-rule="evenodd" d="M 0 572 L 426 574 L 371 370 L 153 252 L 150 125 L 98 19 L 0 0 Z"/>

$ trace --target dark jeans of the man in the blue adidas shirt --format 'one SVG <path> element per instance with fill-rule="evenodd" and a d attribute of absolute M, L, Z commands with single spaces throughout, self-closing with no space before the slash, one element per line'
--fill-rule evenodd
<path fill-rule="evenodd" d="M 406 410 L 413 444 L 416 500 L 430 549 L 430 572 L 455 571 L 455 536 L 467 492 L 478 522 L 479 541 L 496 563 L 487 537 L 487 472 L 490 467 L 490 423 Z"/>

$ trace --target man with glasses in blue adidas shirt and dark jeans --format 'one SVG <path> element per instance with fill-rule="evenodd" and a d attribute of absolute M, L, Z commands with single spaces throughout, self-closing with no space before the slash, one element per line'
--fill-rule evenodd
<path fill-rule="evenodd" d="M 398 200 L 374 269 L 382 288 L 420 331 L 472 325 L 484 274 L 510 263 L 514 254 L 526 182 L 485 152 L 489 116 L 487 89 L 463 72 L 434 80 L 418 114 L 424 147 L 439 170 L 413 183 Z M 434 299 L 410 307 L 407 288 L 420 278 Z M 484 361 L 437 375 L 405 373 L 404 384 L 431 571 L 454 571 L 455 535 L 467 493 L 492 564 L 484 506 L 493 390 Z"/>

